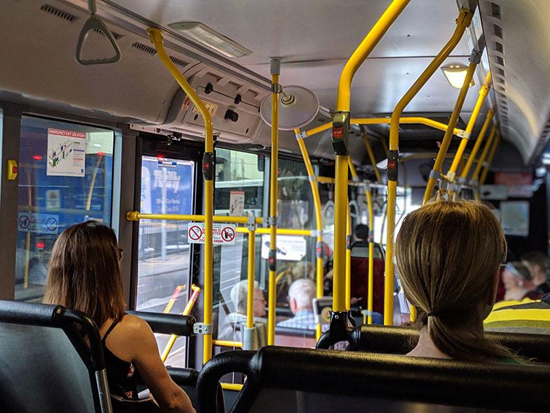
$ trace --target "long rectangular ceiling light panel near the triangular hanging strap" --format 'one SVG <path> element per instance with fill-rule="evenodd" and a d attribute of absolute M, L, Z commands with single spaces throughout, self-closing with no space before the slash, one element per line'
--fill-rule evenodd
<path fill-rule="evenodd" d="M 168 26 L 227 57 L 243 57 L 252 53 L 251 50 L 239 45 L 239 43 L 232 41 L 199 21 L 180 21 L 170 23 Z"/>

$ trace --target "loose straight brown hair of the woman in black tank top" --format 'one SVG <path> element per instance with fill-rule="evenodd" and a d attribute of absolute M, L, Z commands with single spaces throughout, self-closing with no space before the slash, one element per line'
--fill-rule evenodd
<path fill-rule="evenodd" d="M 109 226 L 96 221 L 69 226 L 54 244 L 44 302 L 83 311 L 98 327 L 122 318 L 119 254 Z"/>

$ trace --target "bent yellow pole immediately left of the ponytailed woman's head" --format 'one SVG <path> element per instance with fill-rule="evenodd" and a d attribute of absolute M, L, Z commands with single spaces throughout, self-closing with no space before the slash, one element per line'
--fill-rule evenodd
<path fill-rule="evenodd" d="M 456 28 L 451 39 L 443 46 L 439 54 L 426 67 L 426 70 L 412 84 L 406 94 L 399 100 L 393 110 L 390 123 L 390 147 L 388 151 L 388 229 L 386 235 L 386 265 L 384 276 L 384 324 L 393 325 L 393 236 L 395 231 L 395 200 L 397 196 L 397 166 L 399 160 L 399 118 L 406 105 L 419 92 L 421 87 L 428 81 L 434 72 L 441 66 L 441 63 L 452 52 L 456 44 L 459 43 L 466 28 L 472 21 L 473 13 L 467 9 L 461 9 L 458 19 L 456 19 Z"/>

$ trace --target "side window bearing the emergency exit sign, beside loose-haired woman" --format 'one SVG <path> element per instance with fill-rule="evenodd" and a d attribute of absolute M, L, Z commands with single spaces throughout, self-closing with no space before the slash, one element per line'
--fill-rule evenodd
<path fill-rule="evenodd" d="M 111 224 L 114 132 L 23 116 L 15 299 L 40 301 L 50 254 L 72 224 Z"/>

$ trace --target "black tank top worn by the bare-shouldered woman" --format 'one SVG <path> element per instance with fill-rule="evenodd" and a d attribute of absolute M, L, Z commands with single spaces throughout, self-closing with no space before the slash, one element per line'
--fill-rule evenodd
<path fill-rule="evenodd" d="M 109 392 L 114 399 L 122 401 L 137 401 L 137 381 L 140 374 L 133 363 L 124 361 L 115 356 L 107 348 L 105 340 L 118 325 L 120 320 L 114 321 L 102 339 L 105 365 L 107 366 L 107 380 L 109 381 Z"/>

